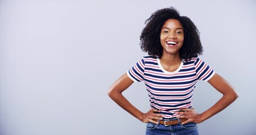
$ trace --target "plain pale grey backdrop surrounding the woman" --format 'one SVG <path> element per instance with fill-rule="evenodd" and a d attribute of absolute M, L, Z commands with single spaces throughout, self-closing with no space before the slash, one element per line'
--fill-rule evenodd
<path fill-rule="evenodd" d="M 107 96 L 120 75 L 146 55 L 144 21 L 174 6 L 201 32 L 206 63 L 240 97 L 198 124 L 200 134 L 256 134 L 255 1 L 7 1 L 0 2 L 0 134 L 145 134 Z M 124 92 L 149 110 L 143 83 Z M 221 94 L 199 82 L 202 113 Z"/>

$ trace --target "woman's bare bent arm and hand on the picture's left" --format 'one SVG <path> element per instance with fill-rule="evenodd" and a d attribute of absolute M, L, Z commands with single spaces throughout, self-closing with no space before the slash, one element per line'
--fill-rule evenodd
<path fill-rule="evenodd" d="M 147 113 L 142 113 L 136 107 L 134 107 L 123 95 L 122 92 L 125 91 L 129 86 L 131 86 L 133 80 L 128 77 L 125 73 L 120 77 L 116 82 L 110 87 L 109 92 L 107 93 L 109 97 L 116 102 L 120 107 L 122 107 L 125 111 L 132 114 L 135 118 L 141 120 L 144 123 L 155 123 L 153 119 L 162 119 L 163 115 L 155 114 L 154 111 L 158 111 L 156 109 L 151 109 Z"/>

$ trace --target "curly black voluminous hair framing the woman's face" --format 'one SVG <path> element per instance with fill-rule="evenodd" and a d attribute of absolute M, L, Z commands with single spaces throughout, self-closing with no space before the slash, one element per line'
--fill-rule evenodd
<path fill-rule="evenodd" d="M 179 16 L 179 12 L 174 7 L 158 10 L 145 21 L 146 26 L 140 36 L 142 51 L 148 52 L 149 55 L 162 56 L 163 47 L 160 43 L 160 32 L 168 19 L 177 19 L 183 26 L 184 42 L 179 50 L 181 59 L 187 60 L 202 55 L 203 47 L 200 41 L 200 33 L 194 22 L 186 16 Z"/>

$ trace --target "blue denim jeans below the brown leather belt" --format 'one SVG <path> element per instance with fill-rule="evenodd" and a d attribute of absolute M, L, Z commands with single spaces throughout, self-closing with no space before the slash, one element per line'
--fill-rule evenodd
<path fill-rule="evenodd" d="M 175 125 L 165 126 L 163 124 L 147 123 L 146 135 L 198 135 L 196 123 L 187 123 L 182 125 L 181 123 Z"/>

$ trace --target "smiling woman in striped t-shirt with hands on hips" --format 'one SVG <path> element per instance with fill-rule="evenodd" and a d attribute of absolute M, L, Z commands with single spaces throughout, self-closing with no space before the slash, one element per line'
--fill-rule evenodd
<path fill-rule="evenodd" d="M 203 52 L 199 31 L 186 16 L 173 8 L 154 12 L 141 33 L 143 57 L 122 75 L 108 95 L 128 113 L 147 123 L 146 134 L 198 134 L 196 123 L 219 113 L 238 97 L 232 86 L 198 55 Z M 210 83 L 223 94 L 201 114 L 192 108 L 197 80 Z M 133 82 L 145 82 L 151 109 L 142 113 L 122 92 Z"/>

